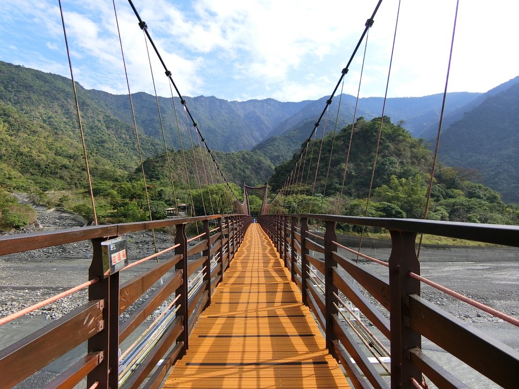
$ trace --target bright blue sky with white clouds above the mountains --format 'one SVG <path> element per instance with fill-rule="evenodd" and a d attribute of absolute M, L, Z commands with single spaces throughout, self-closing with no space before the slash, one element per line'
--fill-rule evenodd
<path fill-rule="evenodd" d="M 185 96 L 245 101 L 329 96 L 376 0 L 133 0 Z M 62 0 L 75 80 L 128 93 L 112 0 Z M 129 3 L 115 0 L 132 93 L 154 93 L 143 32 Z M 389 97 L 442 93 L 455 0 L 402 0 Z M 384 96 L 397 22 L 384 0 L 367 38 L 360 95 Z M 449 92 L 486 92 L 519 75 L 519 2 L 460 0 Z M 58 0 L 1 0 L 0 60 L 70 78 Z M 515 47 L 515 49 L 514 49 Z M 151 47 L 149 47 L 151 50 Z M 364 43 L 345 76 L 356 95 Z M 155 88 L 171 96 L 151 52 Z M 340 89 L 339 89 L 340 90 Z"/>

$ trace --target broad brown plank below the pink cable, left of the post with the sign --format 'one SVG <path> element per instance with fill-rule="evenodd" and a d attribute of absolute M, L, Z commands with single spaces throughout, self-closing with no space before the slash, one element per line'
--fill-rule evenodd
<path fill-rule="evenodd" d="M 102 300 L 89 301 L 2 350 L 2 385 L 14 386 L 101 331 L 103 306 Z"/>

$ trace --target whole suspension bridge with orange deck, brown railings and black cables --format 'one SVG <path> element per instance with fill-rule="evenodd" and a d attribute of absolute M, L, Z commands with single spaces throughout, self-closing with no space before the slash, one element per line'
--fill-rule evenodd
<path fill-rule="evenodd" d="M 437 387 L 468 387 L 449 371 L 448 366 L 422 351 L 422 338 L 427 338 L 465 363 L 468 369 L 473 369 L 474 374 L 488 380 L 483 381 L 483 385 L 494 382 L 502 387 L 517 387 L 519 352 L 426 300 L 421 296 L 421 290 L 427 285 L 438 293 L 494 315 L 513 329 L 519 326 L 519 319 L 421 275 L 420 244 L 417 246 L 415 242 L 417 235 L 431 234 L 516 248 L 519 247 L 518 227 L 431 221 L 426 220 L 427 211 L 424 220 L 279 212 L 278 196 L 301 191 L 305 179 L 305 186 L 312 187 L 308 178 L 313 157 L 308 156 L 308 145 L 321 120 L 326 118 L 327 109 L 348 73 L 354 55 L 364 40 L 367 43 L 367 32 L 373 26 L 380 2 L 367 19 L 359 43 L 297 162 L 270 202 L 267 201 L 267 186 L 245 185 L 243 201 L 230 189 L 171 72 L 160 57 L 146 23 L 131 1 L 130 5 L 147 43 L 165 68 L 172 94 L 175 90 L 182 102 L 186 126 L 193 128 L 193 136 L 189 130 L 191 147 L 185 153 L 192 152 L 196 164 L 195 152 L 199 152 L 201 164 L 195 166 L 196 177 L 190 181 L 188 178 L 188 182 L 198 184 L 200 193 L 202 185 L 206 185 L 209 201 L 206 203 L 201 198 L 203 216 L 152 220 L 150 210 L 148 221 L 98 225 L 86 141 L 75 94 L 94 225 L 1 237 L 0 255 L 90 241 L 92 259 L 88 280 L 0 318 L 0 325 L 15 322 L 48 304 L 59 303 L 61 298 L 79 290 L 87 289 L 88 299 L 73 312 L 1 350 L 0 387 L 24 387 L 25 379 L 81 345 L 83 355 L 72 360 L 43 387 L 73 388 L 80 384 L 89 389 L 160 386 L 345 388 L 350 385 L 356 388 L 426 388 L 430 383 Z M 63 22 L 66 37 L 64 26 Z M 124 59 L 122 45 L 121 54 Z M 71 76 L 73 78 L 72 64 Z M 128 92 L 131 99 L 129 86 Z M 161 115 L 160 109 L 158 115 Z M 381 131 L 384 109 L 380 118 Z M 145 180 L 134 116 L 133 120 Z M 438 138 L 440 130 L 441 124 Z M 162 128 L 162 134 L 164 131 Z M 350 136 L 353 136 L 353 129 Z M 182 137 L 180 140 L 182 142 Z M 167 156 L 166 136 L 164 142 Z M 184 148 L 182 150 L 184 153 Z M 434 161 L 437 151 L 436 147 Z M 318 162 L 312 172 L 312 195 L 320 152 L 315 158 Z M 348 157 L 344 179 L 347 161 Z M 168 165 L 174 190 L 169 159 Z M 187 175 L 187 166 L 185 168 Z M 428 199 L 433 177 L 434 164 Z M 210 183 L 223 184 L 225 195 L 211 197 Z M 263 198 L 257 223 L 250 216 L 248 197 L 252 193 L 261 193 Z M 221 209 L 230 212 L 215 212 Z M 366 255 L 361 246 L 351 248 L 339 243 L 337 228 L 340 225 L 387 229 L 391 235 L 389 257 L 375 258 Z M 188 238 L 189 226 L 195 227 L 196 236 Z M 131 242 L 125 238 L 127 234 L 154 232 L 160 228 L 174 231 L 173 244 L 159 249 L 155 243 L 148 248 L 149 255 L 132 258 L 130 262 L 128 248 Z M 128 269 L 135 270 L 150 260 L 156 260 L 156 265 L 136 275 L 125 275 Z M 366 270 L 365 263 L 376 263 L 384 269 L 384 275 Z M 127 318 L 122 320 L 121 315 Z"/>

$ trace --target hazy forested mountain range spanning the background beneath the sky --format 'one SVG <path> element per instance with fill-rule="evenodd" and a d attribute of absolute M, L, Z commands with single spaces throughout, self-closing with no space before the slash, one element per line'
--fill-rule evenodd
<path fill-rule="evenodd" d="M 128 96 L 86 90 L 79 84 L 77 90 L 94 173 L 106 176 L 135 169 L 138 153 Z M 384 115 L 413 136 L 434 144 L 432 138 L 438 130 L 442 97 L 434 94 L 391 98 L 386 102 Z M 267 180 L 272 165 L 291 159 L 301 148 L 327 99 L 229 102 L 214 96 L 185 98 L 212 149 L 253 150 L 268 158 L 270 167 L 262 166 L 262 177 L 256 177 L 256 182 Z M 155 96 L 140 92 L 132 94 L 132 100 L 143 157 L 163 153 L 165 146 Z M 500 191 L 504 201 L 519 203 L 518 100 L 519 77 L 486 93 L 448 93 L 440 158 L 455 166 L 479 170 L 481 181 Z M 181 142 L 184 148 L 190 147 L 190 142 L 197 145 L 193 126 L 186 124 L 179 99 L 159 97 L 158 101 L 168 148 L 178 149 Z M 339 131 L 351 123 L 355 104 L 354 96 L 335 96 L 317 136 Z M 357 118 L 379 117 L 382 105 L 383 98 L 360 99 Z M 4 168 L 0 180 L 30 177 L 46 188 L 58 184 L 80 185 L 77 177 L 84 168 L 77 127 L 70 79 L 0 61 L 0 165 Z M 249 160 L 245 155 L 240 154 Z M 225 159 L 225 154 L 219 156 Z M 70 166 L 71 170 L 67 171 Z M 241 185 L 242 179 L 250 176 L 241 175 L 236 183 Z"/>

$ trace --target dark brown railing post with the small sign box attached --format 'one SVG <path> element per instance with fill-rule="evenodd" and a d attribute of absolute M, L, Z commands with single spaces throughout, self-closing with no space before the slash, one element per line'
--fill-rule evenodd
<path fill-rule="evenodd" d="M 103 352 L 101 363 L 87 376 L 87 387 L 99 382 L 107 389 L 118 385 L 119 366 L 119 272 L 105 275 L 101 243 L 107 238 L 92 239 L 93 256 L 88 269 L 89 280 L 101 280 L 88 287 L 88 300 L 103 300 L 103 324 L 100 332 L 88 340 L 88 353 Z M 100 325 L 101 326 L 101 325 Z"/>

